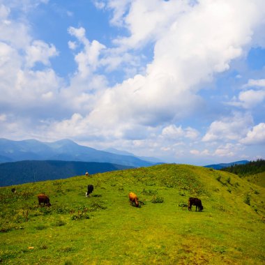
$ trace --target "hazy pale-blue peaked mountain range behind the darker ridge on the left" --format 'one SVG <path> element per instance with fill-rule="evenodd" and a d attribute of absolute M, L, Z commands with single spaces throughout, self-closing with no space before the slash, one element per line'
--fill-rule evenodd
<path fill-rule="evenodd" d="M 129 167 L 148 167 L 154 164 L 133 155 L 124 156 L 81 146 L 70 139 L 62 139 L 56 142 L 40 142 L 36 139 L 22 141 L 0 139 L 0 162 L 22 160 L 109 162 Z"/>

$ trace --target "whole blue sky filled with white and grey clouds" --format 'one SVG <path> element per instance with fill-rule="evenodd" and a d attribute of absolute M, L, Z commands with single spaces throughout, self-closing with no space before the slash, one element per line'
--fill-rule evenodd
<path fill-rule="evenodd" d="M 264 29 L 264 0 L 0 0 L 0 137 L 265 158 Z"/>

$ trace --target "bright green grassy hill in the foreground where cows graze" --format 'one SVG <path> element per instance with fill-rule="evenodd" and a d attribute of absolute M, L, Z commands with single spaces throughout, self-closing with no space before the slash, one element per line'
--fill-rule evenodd
<path fill-rule="evenodd" d="M 158 165 L 10 188 L 0 188 L 3 264 L 265 262 L 265 189 L 228 172 Z M 40 192 L 52 207 L 37 206 Z M 202 212 L 188 211 L 191 196 Z"/>

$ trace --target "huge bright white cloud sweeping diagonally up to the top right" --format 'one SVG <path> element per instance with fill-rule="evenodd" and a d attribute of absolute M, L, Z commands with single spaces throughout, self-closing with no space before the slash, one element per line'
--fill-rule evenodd
<path fill-rule="evenodd" d="M 139 8 L 142 13 L 151 8 L 144 13 L 144 20 L 154 22 L 160 21 L 161 5 L 171 6 L 172 2 L 176 4 L 156 1 L 151 6 L 149 1 L 134 1 L 124 19 L 130 17 L 129 29 L 138 29 L 139 14 L 134 13 L 134 6 L 144 6 Z M 244 45 L 250 43 L 252 29 L 262 15 L 261 9 L 250 1 L 205 0 L 193 7 L 183 3 L 174 13 L 170 10 L 172 16 L 167 23 L 156 27 L 156 32 L 162 29 L 162 33 L 157 35 L 154 58 L 146 74 L 135 75 L 107 90 L 91 112 L 91 120 L 100 123 L 101 117 L 112 116 L 109 120 L 116 123 L 136 118 L 141 124 L 155 126 L 189 115 L 202 104 L 195 87 L 229 69 L 229 63 L 241 56 Z M 149 33 L 139 38 L 142 40 Z M 133 38 L 131 31 L 128 38 L 119 39 L 118 43 L 129 46 Z"/>

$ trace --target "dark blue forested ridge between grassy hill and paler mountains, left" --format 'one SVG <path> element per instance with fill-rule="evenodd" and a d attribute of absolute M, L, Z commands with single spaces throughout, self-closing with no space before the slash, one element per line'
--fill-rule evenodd
<path fill-rule="evenodd" d="M 69 161 L 19 161 L 0 164 L 0 186 L 17 185 L 52 179 L 67 179 L 70 176 L 111 172 L 128 169 L 123 165 L 104 162 Z"/>

